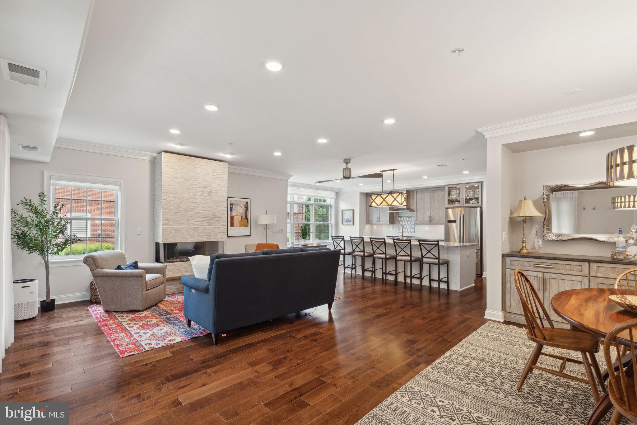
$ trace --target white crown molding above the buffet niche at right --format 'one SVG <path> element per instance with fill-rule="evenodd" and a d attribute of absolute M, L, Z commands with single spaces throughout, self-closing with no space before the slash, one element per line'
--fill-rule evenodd
<path fill-rule="evenodd" d="M 612 115 L 613 113 L 627 112 L 637 110 L 637 94 L 631 96 L 618 97 L 598 103 L 585 104 L 576 108 L 569 108 L 557 112 L 536 115 L 521 120 L 504 122 L 494 126 L 487 126 L 476 129 L 482 133 L 485 138 L 504 136 L 505 134 L 520 133 L 538 129 L 541 127 L 550 127 L 557 124 L 567 122 L 580 121 L 595 117 L 603 117 Z"/>

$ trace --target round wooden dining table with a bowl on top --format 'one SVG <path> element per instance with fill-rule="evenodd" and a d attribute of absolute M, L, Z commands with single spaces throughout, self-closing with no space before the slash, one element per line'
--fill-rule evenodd
<path fill-rule="evenodd" d="M 551 298 L 551 308 L 555 314 L 571 325 L 571 329 L 605 338 L 606 334 L 620 323 L 637 319 L 637 313 L 620 307 L 608 298 L 609 295 L 619 294 L 634 295 L 635 291 L 605 288 L 569 289 L 557 292 Z M 617 341 L 622 345 L 630 345 L 621 336 L 622 334 L 618 335 Z M 588 424 L 598 424 L 612 407 L 608 391 L 606 391 L 590 414 Z"/>

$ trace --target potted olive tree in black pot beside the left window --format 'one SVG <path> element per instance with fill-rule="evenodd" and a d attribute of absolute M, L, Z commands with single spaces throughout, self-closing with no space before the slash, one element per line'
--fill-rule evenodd
<path fill-rule="evenodd" d="M 37 202 L 24 198 L 18 205 L 24 212 L 11 208 L 11 238 L 18 249 L 42 258 L 47 273 L 47 299 L 40 301 L 40 311 L 50 312 L 55 310 L 55 299 L 51 299 L 48 261 L 73 245 L 78 238 L 68 233 L 69 222 L 61 215 L 64 204 L 56 202 L 48 210 L 47 194 L 44 192 L 38 194 Z"/>

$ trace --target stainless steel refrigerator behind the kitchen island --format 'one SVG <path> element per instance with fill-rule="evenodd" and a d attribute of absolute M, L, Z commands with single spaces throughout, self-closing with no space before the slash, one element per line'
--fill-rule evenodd
<path fill-rule="evenodd" d="M 447 208 L 445 241 L 476 244 L 476 276 L 482 276 L 482 208 Z"/>

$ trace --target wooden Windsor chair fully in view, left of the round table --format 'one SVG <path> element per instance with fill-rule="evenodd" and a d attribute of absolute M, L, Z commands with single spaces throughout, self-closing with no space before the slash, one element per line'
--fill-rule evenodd
<path fill-rule="evenodd" d="M 529 340 L 536 343 L 526 366 L 524 366 L 522 376 L 520 377 L 517 385 L 517 390 L 519 391 L 520 388 L 522 388 L 522 384 L 524 384 L 529 373 L 534 369 L 537 369 L 561 378 L 567 378 L 589 384 L 590 391 L 592 392 L 595 401 L 599 401 L 598 385 L 595 377 L 593 376 L 594 372 L 599 384 L 602 385 L 602 389 L 604 389 L 604 381 L 601 375 L 601 370 L 599 370 L 599 364 L 595 357 L 595 353 L 599 352 L 598 336 L 573 331 L 571 329 L 555 328 L 544 303 L 542 303 L 538 291 L 535 289 L 533 284 L 531 284 L 531 281 L 524 272 L 522 272 L 522 270 L 515 270 L 515 272 L 513 272 L 513 278 L 515 279 L 515 289 L 517 289 L 520 296 L 520 303 L 522 304 L 522 311 L 524 312 L 524 319 L 527 325 L 526 336 Z M 542 349 L 545 345 L 558 349 L 580 352 L 582 360 L 571 359 L 570 357 L 559 356 L 557 354 L 543 353 Z M 561 360 L 562 363 L 559 366 L 559 370 L 538 366 L 537 363 L 540 356 L 547 356 Z M 565 373 L 564 369 L 566 369 L 567 363 L 583 364 L 588 379 L 582 379 Z"/>

